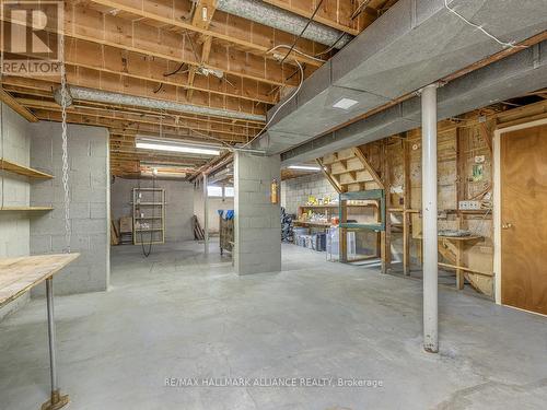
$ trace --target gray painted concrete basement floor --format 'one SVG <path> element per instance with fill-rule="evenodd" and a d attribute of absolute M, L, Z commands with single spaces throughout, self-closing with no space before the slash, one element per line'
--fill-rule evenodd
<path fill-rule="evenodd" d="M 421 282 L 283 245 L 283 271 L 236 277 L 201 246 L 113 248 L 112 290 L 56 298 L 73 409 L 545 409 L 547 319 L 440 291 L 421 350 Z M 48 391 L 45 303 L 0 324 L 0 408 Z M 342 377 L 383 387 L 165 387 L 166 377 Z"/>

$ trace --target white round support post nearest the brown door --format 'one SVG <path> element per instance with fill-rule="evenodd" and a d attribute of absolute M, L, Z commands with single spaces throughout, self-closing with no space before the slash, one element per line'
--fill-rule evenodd
<path fill-rule="evenodd" d="M 437 84 L 421 91 L 421 206 L 423 214 L 423 349 L 439 351 L 437 233 Z"/>

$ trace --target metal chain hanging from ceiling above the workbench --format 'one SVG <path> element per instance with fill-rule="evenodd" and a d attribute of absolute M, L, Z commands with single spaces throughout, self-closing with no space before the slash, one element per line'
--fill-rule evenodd
<path fill-rule="evenodd" d="M 65 190 L 65 251 L 70 254 L 72 229 L 70 225 L 70 189 L 68 165 L 68 127 L 67 127 L 67 71 L 65 67 L 65 33 L 59 37 L 59 54 L 61 61 L 61 136 L 62 136 L 62 188 Z"/>

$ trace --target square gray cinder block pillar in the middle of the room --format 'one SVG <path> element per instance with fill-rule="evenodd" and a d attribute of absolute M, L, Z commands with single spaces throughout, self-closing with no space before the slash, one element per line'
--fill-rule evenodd
<path fill-rule="evenodd" d="M 235 271 L 281 270 L 280 204 L 270 201 L 270 184 L 280 178 L 280 157 L 234 155 Z"/>

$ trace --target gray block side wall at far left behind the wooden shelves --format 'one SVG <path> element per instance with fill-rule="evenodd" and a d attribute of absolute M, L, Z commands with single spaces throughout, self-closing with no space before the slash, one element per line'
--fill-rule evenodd
<path fill-rule="evenodd" d="M 26 132 L 27 122 L 5 104 L 0 103 L 2 117 L 2 143 L 0 157 L 30 165 L 31 143 Z M 0 171 L 0 200 L 4 207 L 24 207 L 30 203 L 31 184 L 26 177 Z M 31 214 L 28 212 L 0 213 L 0 258 L 27 256 L 30 254 Z M 28 302 L 28 293 L 0 308 L 0 320 Z"/>

